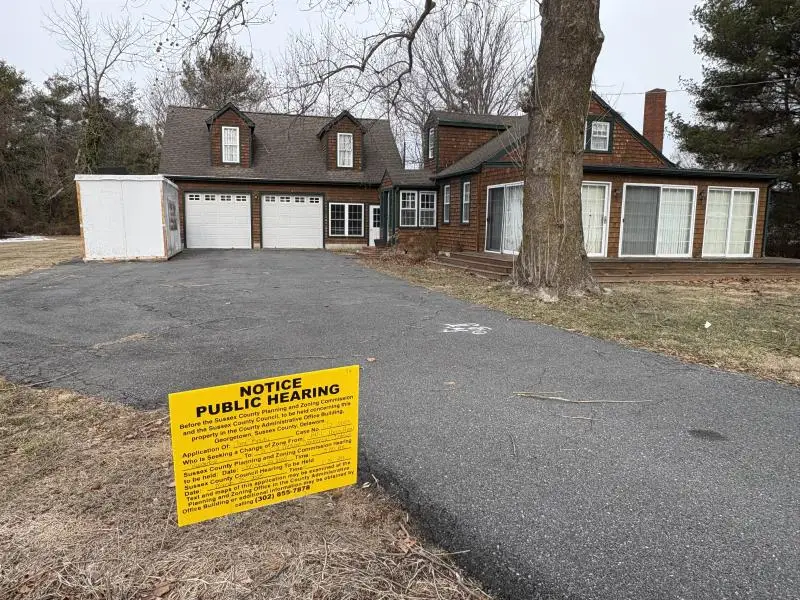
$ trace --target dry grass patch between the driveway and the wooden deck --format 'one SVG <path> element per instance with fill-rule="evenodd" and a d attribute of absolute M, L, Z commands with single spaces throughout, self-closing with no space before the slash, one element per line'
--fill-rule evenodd
<path fill-rule="evenodd" d="M 610 284 L 599 297 L 548 304 L 506 283 L 436 265 L 380 259 L 366 264 L 513 317 L 800 385 L 797 279 Z"/>

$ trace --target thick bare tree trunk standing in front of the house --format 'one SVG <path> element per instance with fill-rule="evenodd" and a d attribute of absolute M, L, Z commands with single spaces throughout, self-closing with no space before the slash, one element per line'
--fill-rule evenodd
<path fill-rule="evenodd" d="M 513 278 L 557 298 L 597 290 L 583 246 L 581 180 L 592 73 L 603 45 L 600 0 L 542 0 L 541 16 Z"/>

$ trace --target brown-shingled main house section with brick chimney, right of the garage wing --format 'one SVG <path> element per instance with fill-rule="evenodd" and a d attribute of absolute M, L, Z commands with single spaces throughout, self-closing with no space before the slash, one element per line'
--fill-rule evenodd
<path fill-rule="evenodd" d="M 657 262 L 749 258 L 762 253 L 773 176 L 678 168 L 662 153 L 666 92 L 645 97 L 644 133 L 596 94 L 585 131 L 581 200 L 586 252 Z M 526 117 L 433 112 L 424 166 L 436 183 L 438 248 L 515 254 L 522 236 Z M 410 240 L 413 191 L 395 188 L 386 236 Z M 410 213 L 409 213 L 410 214 Z M 396 224 L 396 226 L 395 226 Z"/>

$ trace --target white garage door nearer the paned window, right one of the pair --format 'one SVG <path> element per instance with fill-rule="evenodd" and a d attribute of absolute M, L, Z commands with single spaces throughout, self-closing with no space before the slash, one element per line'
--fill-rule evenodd
<path fill-rule="evenodd" d="M 322 248 L 322 197 L 261 198 L 263 248 Z"/>

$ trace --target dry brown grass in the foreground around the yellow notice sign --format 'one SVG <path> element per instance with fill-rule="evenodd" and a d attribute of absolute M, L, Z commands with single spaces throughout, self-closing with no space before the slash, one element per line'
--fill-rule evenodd
<path fill-rule="evenodd" d="M 0 598 L 488 598 L 375 486 L 178 529 L 165 411 L 0 379 Z"/>

